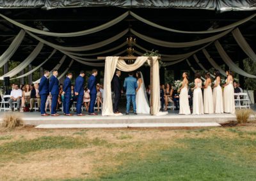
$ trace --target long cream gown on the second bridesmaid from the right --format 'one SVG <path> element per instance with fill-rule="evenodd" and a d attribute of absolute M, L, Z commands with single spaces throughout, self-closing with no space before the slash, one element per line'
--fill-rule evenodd
<path fill-rule="evenodd" d="M 216 80 L 214 80 L 214 84 Z M 214 113 L 223 113 L 223 93 L 220 87 L 220 82 L 217 87 L 213 89 L 213 110 Z"/>

